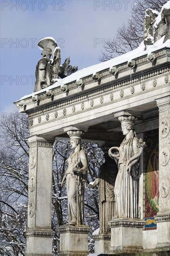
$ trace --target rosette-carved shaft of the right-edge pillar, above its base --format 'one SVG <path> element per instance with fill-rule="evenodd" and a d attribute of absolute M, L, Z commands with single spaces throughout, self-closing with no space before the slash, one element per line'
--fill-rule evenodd
<path fill-rule="evenodd" d="M 159 211 L 170 210 L 170 97 L 159 107 Z M 158 213 L 159 215 L 159 213 Z"/>

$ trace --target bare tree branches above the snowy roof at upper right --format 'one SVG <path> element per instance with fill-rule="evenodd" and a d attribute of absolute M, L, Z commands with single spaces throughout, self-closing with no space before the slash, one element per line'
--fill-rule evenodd
<path fill-rule="evenodd" d="M 136 0 L 131 8 L 131 17 L 126 24 L 118 27 L 112 40 L 105 42 L 104 51 L 99 60 L 108 61 L 127 53 L 139 46 L 144 37 L 145 10 L 151 8 L 160 11 L 167 0 Z"/>

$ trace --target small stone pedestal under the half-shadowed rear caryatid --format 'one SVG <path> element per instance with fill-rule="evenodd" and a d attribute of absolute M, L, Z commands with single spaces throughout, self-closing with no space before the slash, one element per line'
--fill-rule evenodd
<path fill-rule="evenodd" d="M 95 253 L 109 253 L 111 248 L 111 234 L 100 234 L 93 235 L 92 238 L 94 242 L 94 252 Z"/>

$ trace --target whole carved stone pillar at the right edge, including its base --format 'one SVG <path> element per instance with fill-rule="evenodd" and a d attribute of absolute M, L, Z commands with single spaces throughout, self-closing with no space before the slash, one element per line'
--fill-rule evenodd
<path fill-rule="evenodd" d="M 170 96 L 156 99 L 159 108 L 159 212 L 157 250 L 170 250 Z"/>

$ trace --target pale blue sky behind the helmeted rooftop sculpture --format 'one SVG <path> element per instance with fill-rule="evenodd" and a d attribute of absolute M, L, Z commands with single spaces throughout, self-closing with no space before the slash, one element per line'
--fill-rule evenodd
<path fill-rule="evenodd" d="M 106 40 L 131 15 L 133 0 L 1 0 L 0 112 L 17 108 L 13 101 L 34 88 L 37 46 L 51 36 L 61 47 L 61 63 L 71 57 L 78 69 L 99 63 Z"/>

